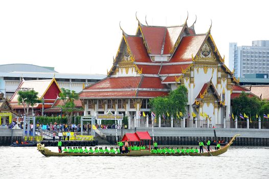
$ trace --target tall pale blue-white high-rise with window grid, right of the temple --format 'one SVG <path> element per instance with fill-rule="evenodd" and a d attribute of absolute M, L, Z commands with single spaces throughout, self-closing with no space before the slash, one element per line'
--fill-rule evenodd
<path fill-rule="evenodd" d="M 229 46 L 229 69 L 234 69 L 236 77 L 245 74 L 269 73 L 269 40 L 252 41 L 252 46 Z"/>

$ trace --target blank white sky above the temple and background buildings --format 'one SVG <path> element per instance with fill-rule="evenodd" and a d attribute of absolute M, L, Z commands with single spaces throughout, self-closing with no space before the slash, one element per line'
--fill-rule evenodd
<path fill-rule="evenodd" d="M 2 1 L 0 64 L 54 66 L 60 73 L 106 74 L 119 48 L 121 27 L 135 35 L 149 25 L 191 26 L 211 34 L 228 65 L 229 42 L 269 40 L 267 1 Z M 232 69 L 231 69 L 232 70 Z"/>

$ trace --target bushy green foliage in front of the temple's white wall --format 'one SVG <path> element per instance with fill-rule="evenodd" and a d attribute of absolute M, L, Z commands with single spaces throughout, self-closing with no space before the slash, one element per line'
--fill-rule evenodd
<path fill-rule="evenodd" d="M 171 91 L 166 97 L 156 97 L 149 100 L 152 111 L 159 116 L 162 114 L 173 115 L 180 111 L 186 113 L 186 105 L 188 102 L 188 90 L 184 85 L 178 86 L 177 89 Z"/>

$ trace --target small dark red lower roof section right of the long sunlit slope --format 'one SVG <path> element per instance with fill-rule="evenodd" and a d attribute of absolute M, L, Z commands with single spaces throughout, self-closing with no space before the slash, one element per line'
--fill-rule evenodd
<path fill-rule="evenodd" d="M 162 88 L 166 89 L 167 86 L 162 84 L 160 77 L 143 77 L 139 88 Z"/>

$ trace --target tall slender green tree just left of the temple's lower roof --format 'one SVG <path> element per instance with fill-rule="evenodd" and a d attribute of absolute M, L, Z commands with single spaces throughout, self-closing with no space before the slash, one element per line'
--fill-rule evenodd
<path fill-rule="evenodd" d="M 73 90 L 70 91 L 69 89 L 61 88 L 59 97 L 63 101 L 63 105 L 59 105 L 59 107 L 61 107 L 62 111 L 65 113 L 65 116 L 68 119 L 68 124 L 71 124 L 74 111 L 78 110 L 74 103 L 74 100 L 78 99 L 78 94 Z"/>

